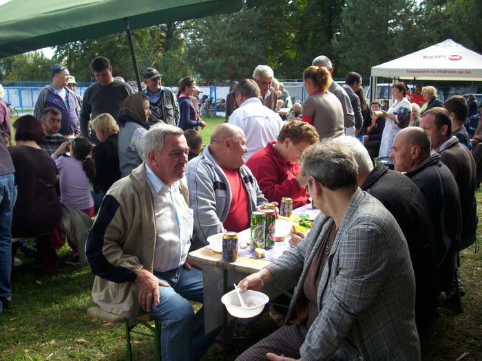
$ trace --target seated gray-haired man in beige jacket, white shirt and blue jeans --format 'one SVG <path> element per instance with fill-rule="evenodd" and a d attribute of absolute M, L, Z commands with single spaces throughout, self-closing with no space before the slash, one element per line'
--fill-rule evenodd
<path fill-rule="evenodd" d="M 87 239 L 96 274 L 92 298 L 134 320 L 142 309 L 163 322 L 163 360 L 199 360 L 216 337 L 205 336 L 202 272 L 187 262 L 193 211 L 187 205 L 186 138 L 156 124 L 145 134 L 145 159 L 105 195 Z"/>

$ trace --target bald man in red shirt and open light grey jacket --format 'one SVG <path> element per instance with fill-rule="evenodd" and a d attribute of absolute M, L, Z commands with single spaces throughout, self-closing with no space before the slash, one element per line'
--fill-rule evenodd
<path fill-rule="evenodd" d="M 207 237 L 224 229 L 240 232 L 249 228 L 251 212 L 266 202 L 244 165 L 247 151 L 242 129 L 223 123 L 202 155 L 187 164 L 189 207 L 194 213 L 191 249 L 204 247 Z"/>

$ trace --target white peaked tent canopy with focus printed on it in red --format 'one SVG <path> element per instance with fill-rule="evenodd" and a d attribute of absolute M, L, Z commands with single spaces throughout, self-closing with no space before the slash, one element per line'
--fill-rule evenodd
<path fill-rule="evenodd" d="M 482 55 L 452 39 L 372 67 L 372 77 L 414 80 L 482 80 Z"/>

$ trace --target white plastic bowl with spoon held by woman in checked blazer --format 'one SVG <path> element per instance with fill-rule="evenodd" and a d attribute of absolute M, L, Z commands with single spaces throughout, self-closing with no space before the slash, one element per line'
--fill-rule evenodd
<path fill-rule="evenodd" d="M 268 303 L 269 297 L 266 294 L 248 289 L 241 294 L 242 300 L 248 307 L 241 307 L 240 300 L 235 289 L 221 297 L 221 302 L 226 307 L 231 316 L 238 318 L 250 318 L 261 313 L 264 305 Z"/>

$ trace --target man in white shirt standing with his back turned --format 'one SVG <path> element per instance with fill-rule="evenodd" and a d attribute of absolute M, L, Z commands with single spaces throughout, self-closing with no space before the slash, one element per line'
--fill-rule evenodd
<path fill-rule="evenodd" d="M 236 102 L 239 108 L 229 117 L 229 123 L 240 127 L 246 135 L 249 157 L 263 149 L 268 142 L 277 140 L 283 127 L 280 116 L 264 107 L 260 100 L 260 88 L 254 80 L 241 80 L 236 88 Z"/>

